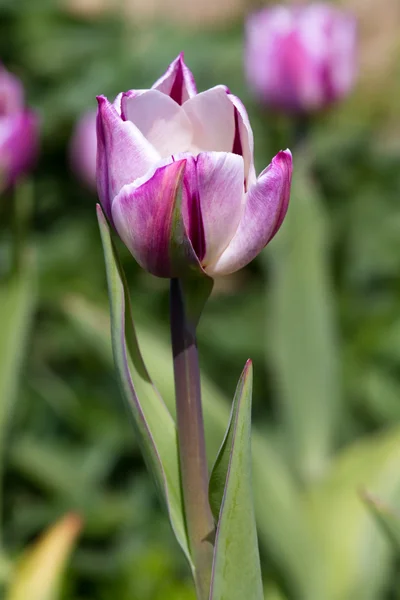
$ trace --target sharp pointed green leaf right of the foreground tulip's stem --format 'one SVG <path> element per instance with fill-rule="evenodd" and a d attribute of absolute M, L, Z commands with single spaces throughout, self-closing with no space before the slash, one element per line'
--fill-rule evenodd
<path fill-rule="evenodd" d="M 263 598 L 251 481 L 251 393 L 249 361 L 210 479 L 210 502 L 218 517 L 210 600 Z"/>

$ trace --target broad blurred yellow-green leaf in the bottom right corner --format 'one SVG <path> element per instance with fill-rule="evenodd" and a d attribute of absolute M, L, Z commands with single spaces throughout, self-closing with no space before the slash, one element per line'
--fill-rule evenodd
<path fill-rule="evenodd" d="M 323 559 L 325 600 L 380 600 L 392 549 L 361 501 L 360 489 L 397 506 L 400 501 L 400 428 L 344 450 L 308 495 L 310 523 Z"/>

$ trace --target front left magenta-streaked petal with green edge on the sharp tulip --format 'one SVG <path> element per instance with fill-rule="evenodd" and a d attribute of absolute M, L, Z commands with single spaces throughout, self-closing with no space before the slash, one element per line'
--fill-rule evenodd
<path fill-rule="evenodd" d="M 122 241 L 137 262 L 158 277 L 176 277 L 182 265 L 198 265 L 179 219 L 180 206 L 178 216 L 176 211 L 185 166 L 185 159 L 159 166 L 150 176 L 124 186 L 112 206 Z"/>

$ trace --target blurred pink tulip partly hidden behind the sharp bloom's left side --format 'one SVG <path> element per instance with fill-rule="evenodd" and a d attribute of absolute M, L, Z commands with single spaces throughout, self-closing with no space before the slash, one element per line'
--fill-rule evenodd
<path fill-rule="evenodd" d="M 70 144 L 71 166 L 89 188 L 96 189 L 96 111 L 88 111 L 77 122 Z"/>

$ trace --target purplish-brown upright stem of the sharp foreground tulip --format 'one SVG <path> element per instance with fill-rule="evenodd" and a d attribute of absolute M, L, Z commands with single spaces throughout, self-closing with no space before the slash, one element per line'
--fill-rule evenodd
<path fill-rule="evenodd" d="M 195 565 L 197 596 L 199 600 L 208 600 L 215 526 L 208 501 L 196 331 L 187 318 L 182 284 L 178 279 L 171 280 L 171 337 L 186 527 Z"/>

